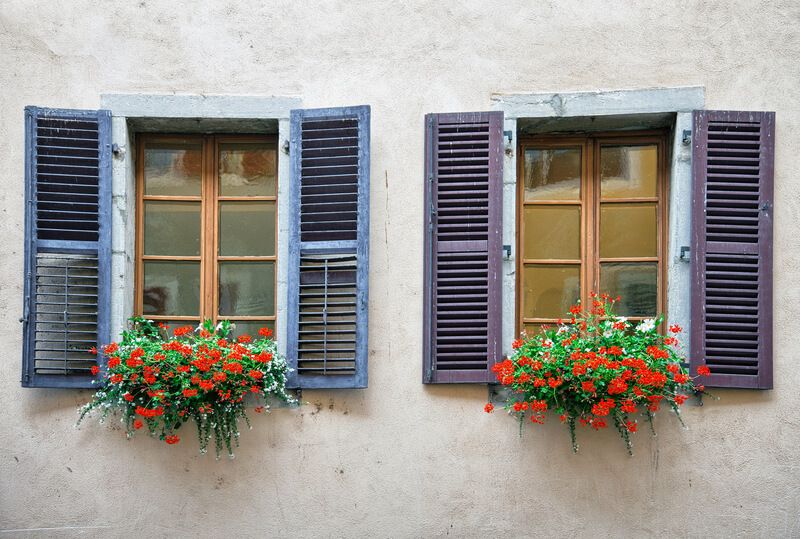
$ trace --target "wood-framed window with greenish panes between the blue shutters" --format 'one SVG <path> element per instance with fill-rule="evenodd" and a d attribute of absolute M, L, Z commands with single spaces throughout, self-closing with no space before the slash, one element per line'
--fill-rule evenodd
<path fill-rule="evenodd" d="M 136 314 L 274 327 L 277 172 L 271 137 L 140 136 Z"/>

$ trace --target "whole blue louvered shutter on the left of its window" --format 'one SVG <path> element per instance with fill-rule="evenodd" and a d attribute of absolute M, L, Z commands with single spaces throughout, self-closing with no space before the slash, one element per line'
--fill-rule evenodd
<path fill-rule="evenodd" d="M 111 114 L 25 109 L 23 387 L 92 387 L 110 340 Z"/>

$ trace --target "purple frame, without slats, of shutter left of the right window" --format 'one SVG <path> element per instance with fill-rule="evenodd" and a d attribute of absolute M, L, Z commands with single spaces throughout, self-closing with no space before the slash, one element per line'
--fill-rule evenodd
<path fill-rule="evenodd" d="M 488 354 L 486 368 L 481 370 L 441 370 L 436 368 L 435 334 L 436 302 L 434 276 L 435 200 L 438 178 L 436 133 L 440 122 L 489 123 L 489 193 L 488 193 Z M 434 113 L 425 116 L 425 243 L 423 286 L 423 368 L 422 381 L 439 383 L 492 383 L 492 367 L 502 358 L 502 228 L 503 228 L 503 112 Z"/>

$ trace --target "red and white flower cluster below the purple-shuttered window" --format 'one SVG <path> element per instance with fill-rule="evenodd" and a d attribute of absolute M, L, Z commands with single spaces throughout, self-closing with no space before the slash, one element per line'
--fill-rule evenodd
<path fill-rule="evenodd" d="M 551 410 L 566 423 L 576 443 L 576 424 L 604 429 L 613 424 L 631 453 L 630 433 L 638 414 L 652 429 L 653 414 L 662 406 L 679 415 L 679 407 L 704 386 L 681 366 L 677 335 L 681 328 L 658 331 L 663 317 L 639 322 L 615 316 L 619 298 L 592 294 L 592 305 L 573 305 L 558 327 L 514 342 L 511 358 L 494 366 L 497 380 L 511 389 L 506 409 L 520 420 L 543 423 Z M 698 374 L 710 374 L 700 367 Z M 492 412 L 490 403 L 484 409 Z"/>

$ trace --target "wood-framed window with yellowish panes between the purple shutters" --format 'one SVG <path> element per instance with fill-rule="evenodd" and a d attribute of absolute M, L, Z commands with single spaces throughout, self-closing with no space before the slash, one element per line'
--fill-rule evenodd
<path fill-rule="evenodd" d="M 517 330 L 553 324 L 591 291 L 621 296 L 620 315 L 665 310 L 665 137 L 521 142 Z"/>

